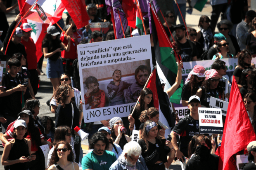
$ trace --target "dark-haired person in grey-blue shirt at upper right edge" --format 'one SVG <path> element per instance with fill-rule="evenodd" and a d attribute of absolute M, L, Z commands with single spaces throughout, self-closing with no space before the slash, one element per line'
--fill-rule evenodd
<path fill-rule="evenodd" d="M 254 27 L 252 26 L 251 21 L 255 17 L 256 17 L 256 12 L 253 10 L 250 10 L 246 13 L 245 19 L 242 20 L 237 25 L 237 29 L 236 29 L 237 43 L 241 51 L 246 48 L 247 35 L 249 35 L 254 30 Z"/>

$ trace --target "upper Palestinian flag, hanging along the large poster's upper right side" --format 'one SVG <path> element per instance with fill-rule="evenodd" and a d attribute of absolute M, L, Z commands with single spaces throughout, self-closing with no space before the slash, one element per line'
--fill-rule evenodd
<path fill-rule="evenodd" d="M 178 73 L 178 66 L 175 61 L 174 52 L 171 48 L 171 42 L 166 35 L 166 32 L 159 21 L 159 18 L 154 9 L 151 6 L 151 26 L 152 26 L 152 34 L 154 40 L 154 50 L 156 55 L 156 65 L 158 70 L 158 75 L 161 78 L 161 82 L 165 83 L 166 86 L 164 91 L 171 88 L 171 86 L 175 83 L 177 73 Z M 171 96 L 171 102 L 176 104 L 180 104 L 181 98 L 181 90 L 182 90 L 183 82 L 181 87 L 178 88 Z"/>

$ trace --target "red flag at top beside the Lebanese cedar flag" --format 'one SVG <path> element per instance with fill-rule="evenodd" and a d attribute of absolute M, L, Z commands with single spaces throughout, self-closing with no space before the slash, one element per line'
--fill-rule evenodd
<path fill-rule="evenodd" d="M 83 0 L 62 0 L 62 3 L 78 29 L 88 25 L 90 17 L 85 10 Z"/>

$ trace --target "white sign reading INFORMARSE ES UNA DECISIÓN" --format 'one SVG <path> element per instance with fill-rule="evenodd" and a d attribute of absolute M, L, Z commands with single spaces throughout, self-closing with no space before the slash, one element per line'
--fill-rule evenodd
<path fill-rule="evenodd" d="M 198 108 L 200 133 L 223 134 L 221 109 Z"/>

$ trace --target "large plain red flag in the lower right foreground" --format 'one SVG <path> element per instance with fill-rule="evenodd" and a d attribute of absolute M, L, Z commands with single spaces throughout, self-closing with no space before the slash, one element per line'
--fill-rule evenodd
<path fill-rule="evenodd" d="M 256 140 L 235 77 L 233 77 L 229 101 L 218 170 L 236 170 L 236 162 L 232 156 L 246 149 L 249 142 Z"/>

